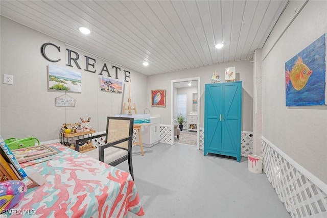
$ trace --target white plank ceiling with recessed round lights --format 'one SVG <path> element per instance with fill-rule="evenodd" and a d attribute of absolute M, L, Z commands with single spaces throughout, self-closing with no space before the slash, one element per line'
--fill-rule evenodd
<path fill-rule="evenodd" d="M 288 1 L 1 1 L 1 15 L 145 75 L 251 60 Z M 78 28 L 90 29 L 82 35 Z M 223 49 L 215 44 L 223 41 Z M 149 65 L 142 63 L 148 61 Z"/>

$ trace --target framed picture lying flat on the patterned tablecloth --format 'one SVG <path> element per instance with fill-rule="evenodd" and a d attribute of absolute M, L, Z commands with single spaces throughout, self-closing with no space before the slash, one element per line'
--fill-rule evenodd
<path fill-rule="evenodd" d="M 28 148 L 16 149 L 11 151 L 18 163 L 36 160 L 42 157 L 57 154 L 58 152 L 45 145 L 32 146 Z"/>

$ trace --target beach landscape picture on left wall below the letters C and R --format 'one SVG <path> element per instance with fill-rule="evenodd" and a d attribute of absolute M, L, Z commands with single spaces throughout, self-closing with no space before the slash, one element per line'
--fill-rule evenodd
<path fill-rule="evenodd" d="M 49 64 L 48 89 L 64 92 L 82 92 L 82 73 Z"/>

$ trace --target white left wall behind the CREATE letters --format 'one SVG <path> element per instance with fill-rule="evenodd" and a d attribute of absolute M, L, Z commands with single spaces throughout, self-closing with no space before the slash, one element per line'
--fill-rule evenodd
<path fill-rule="evenodd" d="M 52 63 L 41 56 L 40 47 L 45 42 L 51 42 L 61 47 L 47 51 L 53 59 L 61 61 Z M 96 131 L 106 130 L 106 117 L 120 114 L 122 98 L 127 102 L 128 83 L 124 81 L 124 71 L 121 68 L 118 80 L 126 84 L 124 94 L 100 91 L 98 72 L 106 62 L 109 72 L 114 79 L 112 64 L 102 59 L 92 57 L 76 49 L 78 61 L 82 69 L 66 66 L 65 43 L 41 34 L 18 23 L 1 17 L 1 74 L 14 76 L 14 84 L 1 84 L 1 135 L 25 138 L 34 136 L 40 141 L 59 138 L 59 130 L 63 123 L 79 122 L 79 117 L 90 116 L 91 126 Z M 85 57 L 97 59 L 96 74 L 83 70 Z M 55 98 L 64 92 L 48 90 L 46 66 L 48 64 L 81 71 L 82 93 L 67 93 L 76 99 L 75 107 L 55 107 Z M 138 113 L 143 113 L 147 107 L 147 76 L 129 70 L 132 81 L 132 103 L 136 103 Z M 103 75 L 106 77 L 106 75 Z"/>

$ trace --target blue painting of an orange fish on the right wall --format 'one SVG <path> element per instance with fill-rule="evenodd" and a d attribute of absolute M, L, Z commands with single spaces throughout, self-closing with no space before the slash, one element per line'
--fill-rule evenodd
<path fill-rule="evenodd" d="M 326 34 L 285 63 L 286 106 L 325 105 Z"/>

